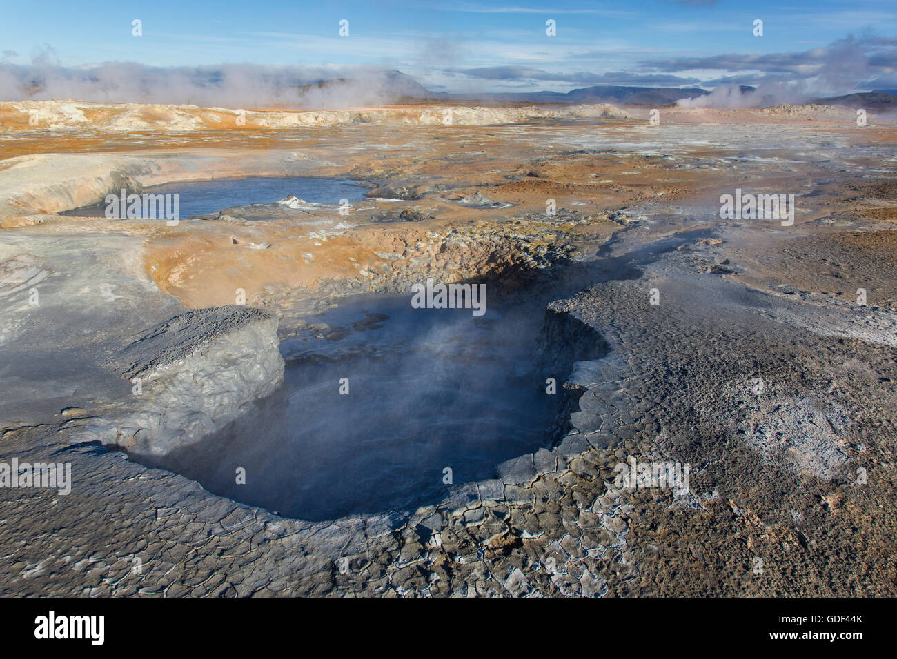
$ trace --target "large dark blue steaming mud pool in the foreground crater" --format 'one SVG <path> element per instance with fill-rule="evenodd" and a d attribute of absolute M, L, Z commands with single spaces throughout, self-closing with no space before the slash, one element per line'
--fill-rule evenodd
<path fill-rule="evenodd" d="M 486 308 L 378 297 L 310 317 L 281 344 L 277 392 L 154 464 L 309 521 L 427 505 L 452 482 L 492 478 L 496 464 L 551 444 L 560 396 L 536 374 L 542 319 Z"/>

